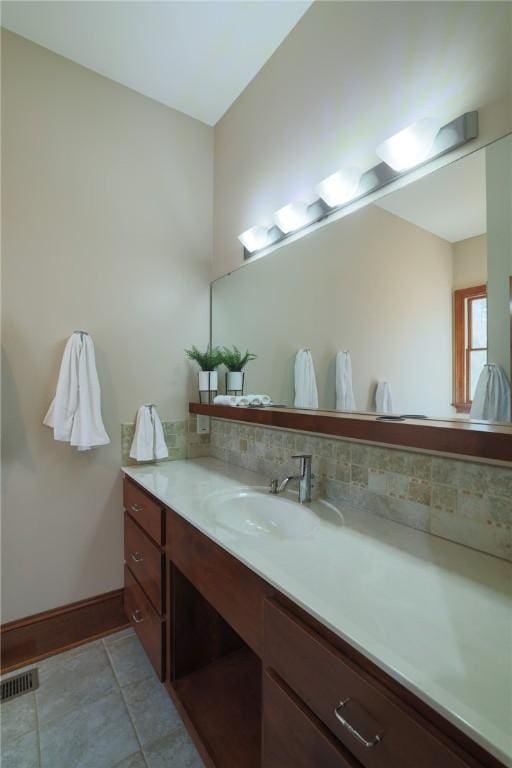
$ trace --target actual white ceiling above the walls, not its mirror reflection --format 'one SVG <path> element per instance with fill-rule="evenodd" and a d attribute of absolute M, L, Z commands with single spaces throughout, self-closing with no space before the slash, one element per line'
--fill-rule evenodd
<path fill-rule="evenodd" d="M 312 0 L 3 0 L 2 26 L 214 125 Z"/>

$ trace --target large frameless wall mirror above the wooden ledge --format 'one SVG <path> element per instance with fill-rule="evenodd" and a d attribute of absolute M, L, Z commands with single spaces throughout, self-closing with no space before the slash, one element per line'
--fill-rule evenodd
<path fill-rule="evenodd" d="M 257 355 L 245 391 L 293 406 L 308 349 L 335 410 L 348 351 L 347 410 L 469 418 L 484 365 L 510 380 L 511 168 L 509 135 L 216 280 L 212 343 Z"/>

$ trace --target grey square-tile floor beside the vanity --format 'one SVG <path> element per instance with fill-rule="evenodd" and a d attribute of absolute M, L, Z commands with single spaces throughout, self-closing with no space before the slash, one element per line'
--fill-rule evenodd
<path fill-rule="evenodd" d="M 1 768 L 203 768 L 132 629 L 33 666 L 38 690 L 1 705 Z"/>

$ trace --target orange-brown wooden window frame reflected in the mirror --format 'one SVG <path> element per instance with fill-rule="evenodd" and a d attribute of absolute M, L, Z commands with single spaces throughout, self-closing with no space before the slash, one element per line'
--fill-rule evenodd
<path fill-rule="evenodd" d="M 457 413 L 469 413 L 470 400 L 469 361 L 473 348 L 466 346 L 466 329 L 468 341 L 471 337 L 471 313 L 469 308 L 474 299 L 487 298 L 486 285 L 473 285 L 469 288 L 459 288 L 453 292 L 454 313 L 454 386 L 453 403 Z M 482 350 L 487 347 L 481 347 Z"/>

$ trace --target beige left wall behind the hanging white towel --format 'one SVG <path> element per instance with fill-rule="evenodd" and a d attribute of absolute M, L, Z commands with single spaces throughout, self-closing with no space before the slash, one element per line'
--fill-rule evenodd
<path fill-rule="evenodd" d="M 180 418 L 206 342 L 213 130 L 2 34 L 3 621 L 122 586 L 120 424 Z M 110 446 L 42 419 L 95 341 Z"/>

